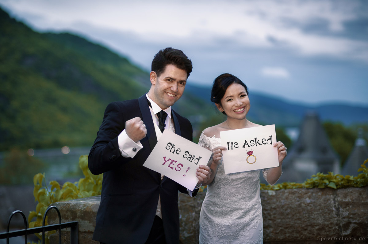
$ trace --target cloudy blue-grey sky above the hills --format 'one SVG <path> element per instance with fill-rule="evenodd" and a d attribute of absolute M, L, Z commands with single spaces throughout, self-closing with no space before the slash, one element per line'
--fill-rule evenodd
<path fill-rule="evenodd" d="M 150 71 L 165 47 L 184 51 L 189 82 L 224 72 L 250 92 L 308 104 L 368 105 L 365 0 L 0 0 L 40 32 L 71 32 Z"/>

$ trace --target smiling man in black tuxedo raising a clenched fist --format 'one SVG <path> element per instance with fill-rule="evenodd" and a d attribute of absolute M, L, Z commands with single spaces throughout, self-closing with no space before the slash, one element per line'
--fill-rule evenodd
<path fill-rule="evenodd" d="M 191 123 L 171 109 L 192 62 L 181 50 L 165 48 L 151 68 L 147 94 L 107 106 L 88 156 L 92 174 L 104 173 L 93 234 L 100 243 L 179 243 L 178 191 L 195 196 L 210 178 L 210 168 L 199 165 L 191 192 L 143 166 L 164 129 L 192 141 Z"/>

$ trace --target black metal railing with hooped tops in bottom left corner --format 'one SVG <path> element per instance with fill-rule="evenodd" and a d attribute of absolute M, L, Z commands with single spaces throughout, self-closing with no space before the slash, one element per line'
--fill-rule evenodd
<path fill-rule="evenodd" d="M 46 225 L 45 226 L 47 212 L 49 212 L 53 208 L 57 211 L 57 215 L 59 216 L 59 224 Z M 11 218 L 17 213 L 19 213 L 23 216 L 24 230 L 9 231 Z M 78 244 L 78 221 L 61 223 L 60 211 L 55 206 L 50 206 L 46 209 L 45 214 L 43 215 L 42 226 L 34 227 L 34 228 L 31 228 L 31 229 L 27 229 L 27 226 L 28 226 L 27 220 L 26 220 L 26 217 L 23 214 L 23 212 L 20 211 L 20 210 L 14 211 L 9 216 L 8 223 L 6 224 L 6 232 L 0 233 L 0 239 L 6 239 L 6 243 L 9 244 L 9 238 L 24 236 L 24 239 L 25 239 L 24 243 L 27 244 L 27 235 L 42 233 L 42 244 L 44 244 L 45 243 L 45 232 L 46 231 L 59 230 L 59 244 L 61 244 L 61 229 L 70 228 L 70 243 L 71 244 Z"/>

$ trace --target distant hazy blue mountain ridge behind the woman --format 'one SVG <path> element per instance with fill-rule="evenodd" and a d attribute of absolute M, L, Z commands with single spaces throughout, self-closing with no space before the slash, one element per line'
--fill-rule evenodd
<path fill-rule="evenodd" d="M 186 85 L 185 92 L 196 95 L 204 103 L 210 103 L 211 88 Z M 343 125 L 367 124 L 368 106 L 330 103 L 308 105 L 286 101 L 282 98 L 250 91 L 251 109 L 248 117 L 261 124 L 276 124 L 281 127 L 298 127 L 307 112 L 314 111 L 321 121 L 331 121 Z"/>

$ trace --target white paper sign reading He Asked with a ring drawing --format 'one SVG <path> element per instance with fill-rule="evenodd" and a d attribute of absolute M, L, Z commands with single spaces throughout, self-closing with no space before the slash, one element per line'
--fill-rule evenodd
<path fill-rule="evenodd" d="M 220 131 L 225 174 L 279 166 L 275 125 Z"/>

